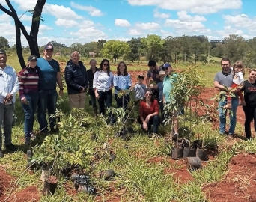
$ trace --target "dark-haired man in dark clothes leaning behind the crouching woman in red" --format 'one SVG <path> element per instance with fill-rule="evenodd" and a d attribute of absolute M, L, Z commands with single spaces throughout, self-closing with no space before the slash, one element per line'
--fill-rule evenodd
<path fill-rule="evenodd" d="M 154 88 L 154 85 L 150 85 L 150 78 L 153 79 L 155 85 L 161 82 L 161 80 L 159 79 L 159 71 L 161 70 L 161 68 L 157 67 L 156 61 L 153 60 L 150 60 L 147 65 L 148 67 L 150 67 L 150 69 L 147 71 L 146 77 L 147 88 L 150 88 L 153 91 L 153 97 L 158 101 L 159 91 Z"/>

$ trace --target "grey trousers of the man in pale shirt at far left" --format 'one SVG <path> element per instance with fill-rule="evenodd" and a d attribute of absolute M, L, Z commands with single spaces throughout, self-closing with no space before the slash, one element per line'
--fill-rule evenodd
<path fill-rule="evenodd" d="M 4 105 L 0 103 L 0 149 L 2 146 L 2 133 L 1 126 L 4 126 L 4 144 L 11 144 L 11 133 L 14 113 L 14 103 L 10 105 Z"/>

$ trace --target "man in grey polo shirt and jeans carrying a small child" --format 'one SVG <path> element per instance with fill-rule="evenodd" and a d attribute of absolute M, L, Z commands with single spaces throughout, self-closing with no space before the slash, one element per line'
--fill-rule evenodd
<path fill-rule="evenodd" d="M 228 88 L 228 90 L 231 90 L 231 85 L 233 84 L 233 71 L 231 70 L 231 61 L 229 58 L 222 58 L 221 60 L 221 67 L 222 71 L 216 73 L 216 76 L 214 78 L 214 87 L 218 88 L 219 91 L 226 91 L 225 86 Z M 237 106 L 238 106 L 238 97 L 237 94 L 235 94 L 236 97 L 232 97 L 231 100 L 231 111 L 232 113 L 229 113 L 230 117 L 230 128 L 228 130 L 228 138 L 233 138 L 234 130 L 236 128 L 237 124 Z M 221 100 L 219 101 L 219 133 L 224 134 L 225 133 L 225 126 L 226 126 L 226 114 L 227 109 L 224 110 L 224 106 L 227 104 L 227 97 L 221 97 Z"/>

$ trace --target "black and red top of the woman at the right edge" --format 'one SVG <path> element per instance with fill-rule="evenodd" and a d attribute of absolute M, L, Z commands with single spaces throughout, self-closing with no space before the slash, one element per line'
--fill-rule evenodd
<path fill-rule="evenodd" d="M 242 91 L 244 91 L 246 105 L 256 105 L 256 82 L 250 83 L 246 80 Z"/>

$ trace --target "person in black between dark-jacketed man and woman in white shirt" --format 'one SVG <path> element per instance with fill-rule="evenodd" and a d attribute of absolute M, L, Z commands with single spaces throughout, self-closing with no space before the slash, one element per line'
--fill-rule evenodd
<path fill-rule="evenodd" d="M 88 82 L 89 82 L 89 90 L 88 90 L 88 94 L 90 95 L 90 98 L 91 98 L 91 105 L 94 109 L 94 117 L 97 117 L 97 104 L 96 104 L 96 97 L 95 97 L 95 94 L 94 94 L 94 88 L 93 88 L 93 81 L 94 81 L 94 73 L 99 70 L 97 67 L 96 67 L 96 60 L 94 59 L 91 59 L 90 61 L 90 65 L 91 65 L 91 68 L 89 70 L 87 70 L 87 74 L 88 74 Z"/>

